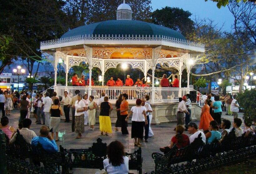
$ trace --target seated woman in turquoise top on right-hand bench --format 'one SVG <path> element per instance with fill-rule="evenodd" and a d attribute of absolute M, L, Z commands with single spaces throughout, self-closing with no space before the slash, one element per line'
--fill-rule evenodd
<path fill-rule="evenodd" d="M 221 133 L 218 131 L 219 130 L 219 126 L 217 121 L 213 120 L 210 122 L 210 126 L 209 126 L 209 132 L 207 132 L 205 134 L 205 137 L 207 139 L 208 143 L 211 143 L 215 140 L 215 138 L 217 140 L 221 139 Z"/>

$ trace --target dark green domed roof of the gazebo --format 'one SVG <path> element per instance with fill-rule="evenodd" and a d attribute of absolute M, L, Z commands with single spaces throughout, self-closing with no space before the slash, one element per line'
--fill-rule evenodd
<path fill-rule="evenodd" d="M 66 37 L 74 37 L 74 36 L 82 36 L 82 35 L 100 35 L 105 36 L 105 35 L 126 35 L 127 37 L 132 35 L 135 37 L 142 37 L 142 35 L 145 37 L 154 37 L 157 35 L 162 36 L 167 36 L 167 37 L 173 37 L 176 39 L 186 39 L 182 34 L 179 32 L 172 30 L 170 28 L 160 26 L 160 25 L 155 25 L 151 24 L 148 22 L 143 22 L 143 21 L 136 21 L 136 20 L 110 20 L 110 21 L 102 21 L 102 22 L 97 22 L 94 24 L 89 24 L 89 25 L 84 25 L 77 27 L 75 29 L 72 29 L 65 34 L 62 35 L 61 38 L 66 38 Z"/>

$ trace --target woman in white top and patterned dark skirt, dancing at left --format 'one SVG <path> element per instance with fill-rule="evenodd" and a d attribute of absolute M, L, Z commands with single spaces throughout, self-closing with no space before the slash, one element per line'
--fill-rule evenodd
<path fill-rule="evenodd" d="M 75 131 L 78 133 L 76 139 L 81 138 L 81 133 L 84 132 L 84 111 L 86 111 L 85 103 L 82 101 L 83 96 L 81 94 L 77 95 L 77 100 L 75 102 Z M 88 110 L 88 108 L 87 108 Z"/>

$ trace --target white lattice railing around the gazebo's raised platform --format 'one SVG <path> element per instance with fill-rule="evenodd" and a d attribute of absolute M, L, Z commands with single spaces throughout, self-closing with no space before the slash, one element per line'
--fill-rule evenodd
<path fill-rule="evenodd" d="M 101 93 L 104 92 L 109 97 L 111 103 L 115 103 L 118 95 L 122 93 L 128 94 L 128 102 L 135 103 L 137 98 L 145 97 L 149 95 L 151 97 L 151 87 L 108 87 L 108 86 L 92 86 L 91 94 L 94 96 L 94 100 L 98 101 L 101 98 Z M 79 90 L 80 94 L 88 94 L 88 86 L 56 86 L 54 89 L 57 92 L 57 96 L 63 96 L 64 91 L 67 91 L 70 97 L 75 96 L 76 90 Z M 179 102 L 179 96 L 186 95 L 187 88 L 155 88 L 155 103 L 168 103 Z M 151 99 L 150 99 L 151 101 Z"/>

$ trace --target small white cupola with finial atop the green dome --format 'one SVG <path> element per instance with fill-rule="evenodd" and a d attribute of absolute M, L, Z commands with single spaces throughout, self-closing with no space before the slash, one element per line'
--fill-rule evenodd
<path fill-rule="evenodd" d="M 131 14 L 131 7 L 126 4 L 124 0 L 124 2 L 117 7 L 116 20 L 131 20 Z"/>

